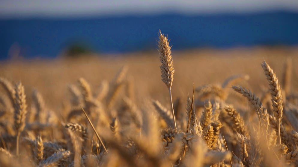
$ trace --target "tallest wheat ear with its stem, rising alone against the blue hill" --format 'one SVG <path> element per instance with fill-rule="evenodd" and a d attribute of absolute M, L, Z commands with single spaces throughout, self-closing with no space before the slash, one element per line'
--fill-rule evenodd
<path fill-rule="evenodd" d="M 173 122 L 176 126 L 175 114 L 174 114 L 174 107 L 173 107 L 173 100 L 172 100 L 172 83 L 174 79 L 174 67 L 173 67 L 173 59 L 171 55 L 171 46 L 169 46 L 168 37 L 161 33 L 159 30 L 159 41 L 158 41 L 158 52 L 159 52 L 159 60 L 161 62 L 160 70 L 161 70 L 161 80 L 167 85 L 170 94 L 171 100 L 171 107 L 172 107 L 172 115 L 173 115 Z"/>

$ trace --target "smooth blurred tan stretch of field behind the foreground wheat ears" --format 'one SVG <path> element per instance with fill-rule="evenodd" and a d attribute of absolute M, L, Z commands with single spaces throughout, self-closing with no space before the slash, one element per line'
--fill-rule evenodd
<path fill-rule="evenodd" d="M 295 47 L 255 47 L 218 50 L 174 51 L 175 82 L 174 98 L 185 99 L 192 92 L 192 84 L 200 86 L 207 83 L 221 84 L 230 76 L 247 74 L 250 79 L 243 82 L 257 93 L 266 90 L 260 63 L 266 60 L 279 71 L 283 78 L 284 66 L 288 58 L 293 63 L 292 87 L 297 88 L 297 73 L 294 65 L 298 61 Z M 110 56 L 82 56 L 78 59 L 31 60 L 2 62 L 1 76 L 10 81 L 22 81 L 28 85 L 28 92 L 38 89 L 53 109 L 59 109 L 68 95 L 67 86 L 84 77 L 94 91 L 102 81 L 110 82 L 114 75 L 127 67 L 127 82 L 133 84 L 137 102 L 145 98 L 167 102 L 167 91 L 160 81 L 158 52 L 130 53 Z M 258 82 L 255 82 L 258 81 Z M 124 91 L 122 93 L 125 93 Z M 30 98 L 30 96 L 29 96 Z"/>

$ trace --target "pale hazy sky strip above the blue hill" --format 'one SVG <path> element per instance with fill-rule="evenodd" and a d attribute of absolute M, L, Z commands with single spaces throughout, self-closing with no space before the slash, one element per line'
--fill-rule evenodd
<path fill-rule="evenodd" d="M 119 13 L 298 11 L 298 0 L 0 0 L 0 17 L 88 16 Z"/>

